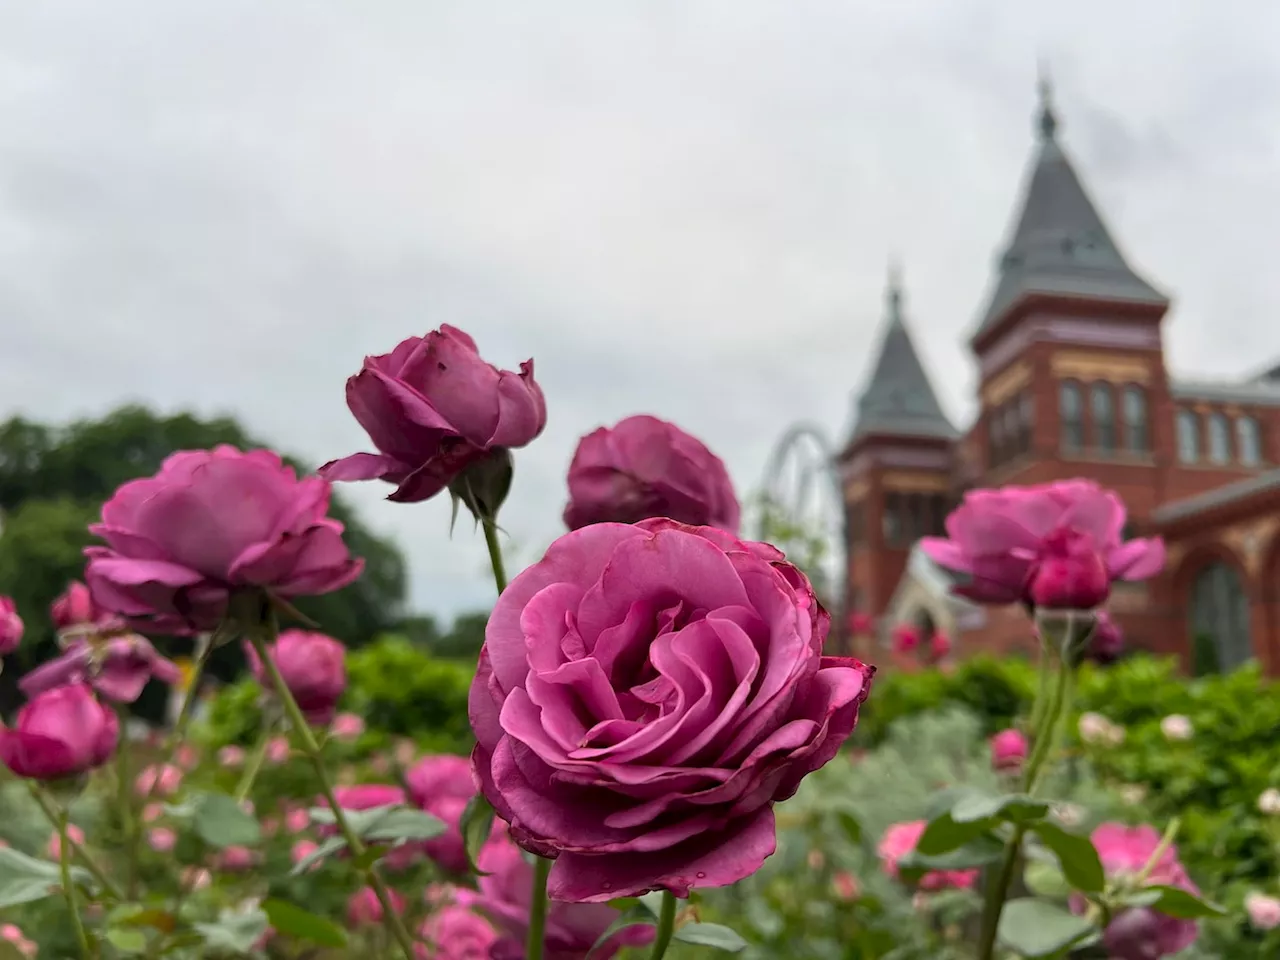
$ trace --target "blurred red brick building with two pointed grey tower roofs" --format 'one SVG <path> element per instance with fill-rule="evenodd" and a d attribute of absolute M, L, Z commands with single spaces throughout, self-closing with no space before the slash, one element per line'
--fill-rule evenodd
<path fill-rule="evenodd" d="M 846 609 L 874 614 L 881 644 L 914 621 L 946 630 L 959 655 L 1029 649 L 1020 611 L 951 598 L 915 541 L 942 531 L 966 489 L 1087 476 L 1125 499 L 1133 534 L 1169 547 L 1160 579 L 1112 596 L 1129 644 L 1201 668 L 1257 658 L 1280 673 L 1280 366 L 1222 383 L 1170 375 L 1169 306 L 1089 200 L 1046 97 L 968 344 L 979 371 L 968 429 L 938 403 L 890 283 L 879 355 L 838 457 Z"/>

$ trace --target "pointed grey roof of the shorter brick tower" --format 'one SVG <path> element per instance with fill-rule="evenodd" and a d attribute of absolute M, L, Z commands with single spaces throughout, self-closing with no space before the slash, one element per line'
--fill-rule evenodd
<path fill-rule="evenodd" d="M 902 291 L 890 278 L 879 357 L 858 398 L 851 442 L 868 434 L 954 440 L 959 436 L 933 392 L 902 320 Z"/>

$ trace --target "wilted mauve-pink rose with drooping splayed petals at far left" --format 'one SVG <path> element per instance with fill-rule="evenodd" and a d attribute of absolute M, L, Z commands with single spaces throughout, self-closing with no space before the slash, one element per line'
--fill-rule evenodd
<path fill-rule="evenodd" d="M 65 652 L 27 673 L 18 686 L 27 696 L 68 684 L 91 684 L 99 694 L 116 703 L 133 703 L 150 680 L 177 684 L 178 666 L 165 659 L 151 641 L 137 634 L 114 636 L 104 643 L 73 640 Z"/>

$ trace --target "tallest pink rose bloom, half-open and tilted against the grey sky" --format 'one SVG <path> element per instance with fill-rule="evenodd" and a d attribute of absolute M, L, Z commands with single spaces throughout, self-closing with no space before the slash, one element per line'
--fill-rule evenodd
<path fill-rule="evenodd" d="M 378 453 L 320 467 L 328 480 L 387 480 L 388 499 L 425 500 L 489 451 L 524 447 L 547 425 L 534 361 L 520 372 L 486 364 L 475 340 L 443 325 L 390 353 L 365 357 L 347 380 L 347 406 Z"/>

